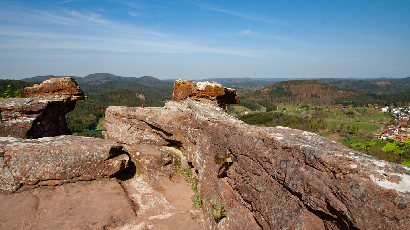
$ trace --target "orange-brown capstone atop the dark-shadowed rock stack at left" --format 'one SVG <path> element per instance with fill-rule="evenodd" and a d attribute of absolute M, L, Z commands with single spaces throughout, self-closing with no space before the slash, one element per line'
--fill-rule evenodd
<path fill-rule="evenodd" d="M 87 96 L 72 77 L 51 78 L 40 85 L 24 88 L 26 97 L 52 101 L 85 100 Z"/>

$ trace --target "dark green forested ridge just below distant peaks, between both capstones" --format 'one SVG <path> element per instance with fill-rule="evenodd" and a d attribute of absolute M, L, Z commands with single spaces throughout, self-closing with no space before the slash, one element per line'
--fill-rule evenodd
<path fill-rule="evenodd" d="M 80 87 L 88 96 L 97 95 L 107 90 L 122 88 L 142 93 L 145 97 L 155 98 L 160 101 L 171 100 L 172 97 L 172 87 L 155 88 L 143 86 L 133 81 L 106 81 L 100 85 L 83 84 Z"/>

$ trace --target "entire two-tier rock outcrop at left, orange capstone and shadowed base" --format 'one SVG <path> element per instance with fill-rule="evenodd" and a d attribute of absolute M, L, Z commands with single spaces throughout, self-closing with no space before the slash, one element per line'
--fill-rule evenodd
<path fill-rule="evenodd" d="M 0 136 L 42 138 L 69 135 L 66 114 L 73 111 L 76 100 L 85 100 L 71 77 L 50 79 L 24 89 L 27 98 L 0 99 L 3 123 Z"/>

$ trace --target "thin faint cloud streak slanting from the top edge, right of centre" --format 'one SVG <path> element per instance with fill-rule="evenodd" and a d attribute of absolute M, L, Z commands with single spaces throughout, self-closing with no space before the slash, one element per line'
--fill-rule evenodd
<path fill-rule="evenodd" d="M 196 5 L 198 7 L 201 7 L 203 9 L 211 10 L 211 11 L 216 11 L 216 12 L 222 12 L 225 14 L 230 14 L 232 16 L 237 16 L 240 18 L 246 18 L 249 20 L 254 20 L 254 21 L 259 21 L 263 23 L 274 23 L 274 24 L 282 24 L 282 25 L 288 25 L 289 23 L 286 22 L 285 20 L 280 20 L 280 19 L 275 19 L 275 18 L 270 18 L 261 14 L 246 14 L 243 12 L 235 12 L 235 11 L 229 11 L 225 9 L 221 9 L 215 5 L 212 5 L 210 3 L 205 3 L 205 2 L 189 2 L 193 5 Z"/>

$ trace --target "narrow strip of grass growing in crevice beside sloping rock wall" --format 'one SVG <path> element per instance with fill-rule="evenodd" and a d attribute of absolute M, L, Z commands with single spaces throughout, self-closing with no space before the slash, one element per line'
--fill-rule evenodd
<path fill-rule="evenodd" d="M 187 183 L 191 185 L 191 189 L 194 191 L 194 196 L 192 197 L 192 201 L 194 202 L 194 208 L 195 209 L 203 208 L 202 201 L 199 199 L 199 194 L 198 194 L 198 182 L 199 182 L 198 178 L 196 178 L 196 176 L 192 174 L 191 168 L 182 169 L 181 157 L 179 155 L 177 154 L 172 155 L 171 160 L 172 160 L 173 169 L 185 176 L 185 181 L 187 181 Z"/>

